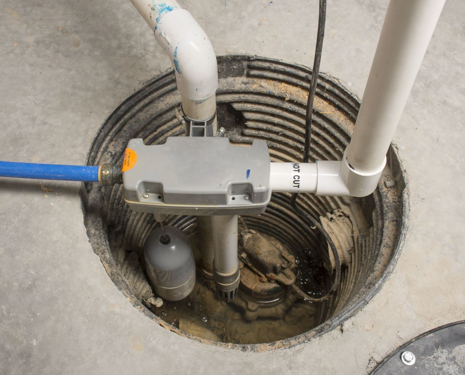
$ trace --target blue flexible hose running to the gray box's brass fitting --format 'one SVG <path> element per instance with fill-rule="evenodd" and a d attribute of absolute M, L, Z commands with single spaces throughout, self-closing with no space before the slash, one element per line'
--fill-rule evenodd
<path fill-rule="evenodd" d="M 17 163 L 14 161 L 0 161 L 0 177 L 98 182 L 99 166 Z"/>

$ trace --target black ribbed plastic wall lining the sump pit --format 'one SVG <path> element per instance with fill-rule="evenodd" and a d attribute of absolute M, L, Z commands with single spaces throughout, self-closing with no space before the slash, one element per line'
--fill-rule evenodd
<path fill-rule="evenodd" d="M 218 63 L 219 126 L 226 127 L 230 141 L 250 144 L 261 139 L 267 142 L 272 161 L 301 161 L 311 70 L 247 56 L 225 56 L 219 58 Z M 161 144 L 168 136 L 184 135 L 184 128 L 174 115 L 179 99 L 173 72 L 148 82 L 125 100 L 104 123 L 94 141 L 88 163 L 121 164 L 127 141 L 132 138 L 142 138 L 145 144 Z M 358 110 L 359 102 L 336 80 L 320 76 L 314 107 L 311 161 L 342 158 Z M 156 166 L 157 161 L 153 162 Z M 383 181 L 389 179 L 392 180 L 393 176 L 386 168 L 379 189 L 364 199 L 299 194 L 299 205 L 314 217 L 336 208 L 352 207 L 361 210 L 371 226 L 368 234 L 356 239 L 359 246 L 351 254 L 351 262 L 342 270 L 339 291 L 330 301 L 320 305 L 320 322 L 371 288 L 391 258 L 398 238 L 398 226 L 391 226 L 394 229 L 391 228 L 389 235 L 384 229 L 388 221 L 398 220 L 400 206 L 393 204 L 396 199 L 399 201 L 397 190 L 388 191 L 383 185 Z M 108 235 L 112 231 L 124 233 L 124 243 L 120 246 L 140 251 L 147 234 L 155 227 L 153 215 L 132 212 L 123 200 L 121 186 L 101 188 L 97 192 L 92 189 L 90 195 L 96 197 L 100 194 L 102 197 L 101 210 Z M 390 214 L 386 215 L 388 210 Z M 326 242 L 291 208 L 290 194 L 273 194 L 264 214 L 246 216 L 245 221 L 249 228 L 286 243 L 298 256 L 327 258 Z M 188 231 L 191 237 L 196 235 L 194 217 L 169 216 L 168 223 Z"/>

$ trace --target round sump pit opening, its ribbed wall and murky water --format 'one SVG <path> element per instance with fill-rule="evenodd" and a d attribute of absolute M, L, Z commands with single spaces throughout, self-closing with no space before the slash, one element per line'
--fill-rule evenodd
<path fill-rule="evenodd" d="M 311 70 L 250 56 L 219 57 L 218 67 L 218 120 L 230 141 L 250 144 L 253 139 L 262 139 L 268 144 L 272 161 L 300 161 Z M 184 135 L 174 115 L 179 104 L 173 72 L 154 78 L 108 117 L 93 142 L 88 163 L 121 164 L 126 144 L 132 138 L 142 138 L 145 144 L 160 144 L 168 136 Z M 310 161 L 342 158 L 358 109 L 359 101 L 336 80 L 320 75 Z M 135 213 L 126 206 L 120 186 L 86 186 L 82 196 L 87 233 L 115 284 L 136 307 L 162 326 L 194 339 L 219 340 L 225 342 L 219 345 L 228 348 L 265 350 L 291 346 L 336 327 L 365 306 L 391 272 L 405 233 L 406 189 L 392 147 L 387 156 L 379 187 L 368 197 L 299 194 L 299 205 L 320 218 L 339 243 L 344 266 L 341 285 L 330 300 L 316 304 L 294 298 L 288 306 L 279 306 L 285 310 L 284 315 L 282 311 L 273 313 L 272 305 L 221 304 L 199 271 L 196 287 L 188 298 L 164 301 L 156 307 L 156 296 L 152 297 L 153 290 L 141 264 L 142 246 L 156 223 L 153 215 Z M 291 208 L 290 194 L 273 194 L 264 214 L 242 219 L 243 229 L 263 234 L 296 257 L 302 289 L 313 296 L 325 294 L 332 272 L 327 243 Z M 195 217 L 169 216 L 166 223 L 186 231 L 199 263 Z M 244 308 L 248 319 L 244 317 Z M 258 314 L 251 313 L 257 310 Z M 269 317 L 273 314 L 283 316 Z"/>

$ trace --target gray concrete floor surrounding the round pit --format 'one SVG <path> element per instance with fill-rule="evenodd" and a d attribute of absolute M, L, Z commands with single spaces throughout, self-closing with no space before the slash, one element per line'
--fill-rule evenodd
<path fill-rule="evenodd" d="M 318 1 L 182 1 L 217 54 L 312 66 Z M 328 2 L 321 71 L 362 96 L 387 0 Z M 205 12 L 205 10 L 207 10 Z M 446 2 L 394 143 L 410 187 L 398 264 L 330 333 L 244 353 L 137 311 L 83 224 L 80 183 L 0 181 L 0 373 L 366 374 L 399 345 L 465 316 L 465 3 Z M 84 164 L 102 122 L 170 62 L 127 0 L 3 0 L 0 159 Z M 45 193 L 40 184 L 53 188 Z"/>

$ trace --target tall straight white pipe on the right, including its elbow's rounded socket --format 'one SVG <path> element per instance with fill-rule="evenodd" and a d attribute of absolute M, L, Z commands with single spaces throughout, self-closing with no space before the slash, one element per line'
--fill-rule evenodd
<path fill-rule="evenodd" d="M 378 185 L 386 153 L 445 0 L 391 0 L 352 140 L 341 163 L 350 194 Z"/>

